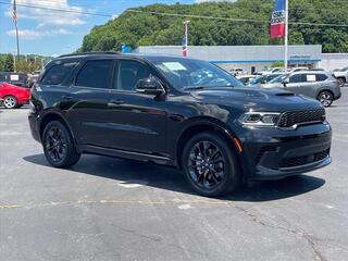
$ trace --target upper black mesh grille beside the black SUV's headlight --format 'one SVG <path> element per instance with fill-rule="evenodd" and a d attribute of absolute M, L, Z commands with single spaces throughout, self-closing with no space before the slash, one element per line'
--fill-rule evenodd
<path fill-rule="evenodd" d="M 299 123 L 320 122 L 325 117 L 325 110 L 306 110 L 296 112 L 285 112 L 278 122 L 279 127 L 291 127 Z"/>

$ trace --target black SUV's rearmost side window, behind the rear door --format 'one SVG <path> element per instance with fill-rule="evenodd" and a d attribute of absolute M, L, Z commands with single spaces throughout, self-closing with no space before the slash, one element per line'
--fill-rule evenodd
<path fill-rule="evenodd" d="M 67 74 L 73 70 L 76 63 L 62 63 L 58 65 L 53 65 L 49 69 L 49 71 L 45 74 L 41 79 L 41 84 L 44 85 L 60 85 L 65 79 Z"/>

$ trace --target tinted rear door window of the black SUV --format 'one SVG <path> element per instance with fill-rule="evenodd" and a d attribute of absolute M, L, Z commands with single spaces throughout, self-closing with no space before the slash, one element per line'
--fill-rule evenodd
<path fill-rule="evenodd" d="M 112 60 L 88 61 L 76 77 L 76 86 L 110 88 Z"/>

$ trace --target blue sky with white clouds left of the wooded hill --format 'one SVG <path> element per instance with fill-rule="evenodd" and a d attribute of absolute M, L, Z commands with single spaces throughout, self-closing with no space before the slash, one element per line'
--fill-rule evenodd
<path fill-rule="evenodd" d="M 16 0 L 21 54 L 60 55 L 80 47 L 96 25 L 102 25 L 128 8 L 152 3 L 197 3 L 219 0 Z M 234 0 L 231 0 L 234 1 Z M 20 7 L 20 5 L 27 7 Z M 64 13 L 29 7 L 63 9 Z M 0 53 L 16 53 L 13 0 L 0 0 Z M 100 13 L 97 16 L 84 13 Z"/>

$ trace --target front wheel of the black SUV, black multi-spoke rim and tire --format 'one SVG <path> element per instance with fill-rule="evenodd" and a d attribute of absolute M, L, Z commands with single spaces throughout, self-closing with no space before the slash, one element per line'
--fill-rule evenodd
<path fill-rule="evenodd" d="M 239 185 L 240 170 L 234 151 L 214 133 L 202 133 L 188 140 L 182 163 L 186 181 L 199 195 L 222 196 Z"/>

